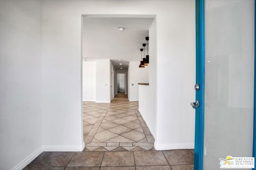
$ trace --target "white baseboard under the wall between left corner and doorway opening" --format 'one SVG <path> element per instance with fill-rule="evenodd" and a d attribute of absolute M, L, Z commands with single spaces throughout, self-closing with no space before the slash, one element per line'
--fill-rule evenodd
<path fill-rule="evenodd" d="M 44 152 L 80 152 L 84 150 L 84 143 L 80 146 L 44 145 Z"/>

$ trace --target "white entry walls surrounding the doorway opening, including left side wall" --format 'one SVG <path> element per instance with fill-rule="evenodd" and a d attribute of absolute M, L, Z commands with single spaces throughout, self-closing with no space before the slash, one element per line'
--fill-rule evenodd
<path fill-rule="evenodd" d="M 42 145 L 45 151 L 84 148 L 82 14 L 156 15 L 155 147 L 194 143 L 194 110 L 189 106 L 195 98 L 194 0 L 48 0 L 42 1 L 42 18 L 40 3 L 0 5 L 1 169 L 18 166 Z"/>

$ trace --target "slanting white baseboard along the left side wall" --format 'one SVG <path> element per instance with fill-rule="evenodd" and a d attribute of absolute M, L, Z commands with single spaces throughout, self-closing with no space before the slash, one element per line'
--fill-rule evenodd
<path fill-rule="evenodd" d="M 28 155 L 24 160 L 22 160 L 19 164 L 14 166 L 11 170 L 22 170 L 25 168 L 32 160 L 34 160 L 37 156 L 39 156 L 43 152 L 43 148 L 39 147 L 32 154 Z"/>

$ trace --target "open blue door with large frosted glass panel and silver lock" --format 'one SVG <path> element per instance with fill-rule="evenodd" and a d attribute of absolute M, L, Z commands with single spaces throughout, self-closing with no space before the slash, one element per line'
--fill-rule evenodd
<path fill-rule="evenodd" d="M 195 170 L 255 154 L 254 9 L 254 0 L 196 0 Z"/>

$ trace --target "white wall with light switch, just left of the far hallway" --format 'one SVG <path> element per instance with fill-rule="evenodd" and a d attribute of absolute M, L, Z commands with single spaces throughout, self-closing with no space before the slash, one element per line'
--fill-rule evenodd
<path fill-rule="evenodd" d="M 110 103 L 110 59 L 96 60 L 96 102 Z"/>

